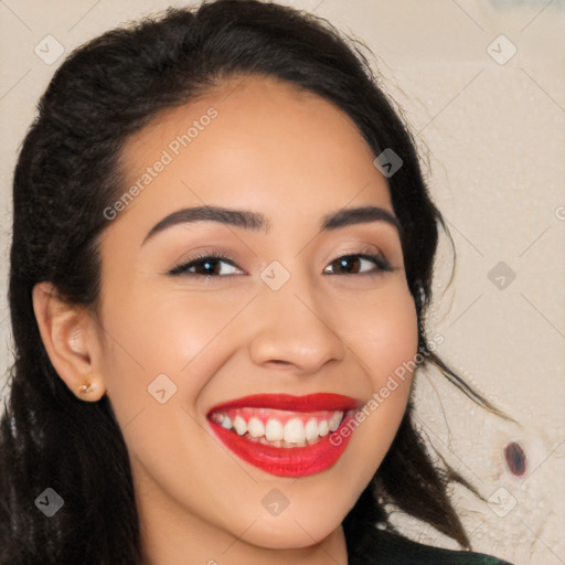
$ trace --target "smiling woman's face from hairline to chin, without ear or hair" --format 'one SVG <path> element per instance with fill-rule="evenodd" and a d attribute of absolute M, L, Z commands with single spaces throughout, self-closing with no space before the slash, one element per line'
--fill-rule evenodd
<path fill-rule="evenodd" d="M 374 157 L 341 110 L 264 77 L 127 143 L 129 192 L 102 239 L 102 373 L 148 545 L 214 541 L 202 556 L 220 563 L 310 546 L 380 466 L 417 321 Z"/>

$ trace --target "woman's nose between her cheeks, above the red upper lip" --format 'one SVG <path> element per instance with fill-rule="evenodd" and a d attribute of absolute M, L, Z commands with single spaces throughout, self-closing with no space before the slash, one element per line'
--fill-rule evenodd
<path fill-rule="evenodd" d="M 257 365 L 308 374 L 343 359 L 347 345 L 334 328 L 338 320 L 329 316 L 331 306 L 297 277 L 279 290 L 264 287 L 255 308 L 249 355 Z"/>

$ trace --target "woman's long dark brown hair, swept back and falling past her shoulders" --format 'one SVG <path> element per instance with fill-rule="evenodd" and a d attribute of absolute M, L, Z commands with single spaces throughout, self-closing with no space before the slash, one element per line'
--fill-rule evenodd
<path fill-rule="evenodd" d="M 96 308 L 98 243 L 108 223 L 104 211 L 126 188 L 119 167 L 124 143 L 161 111 L 205 95 L 228 77 L 273 76 L 316 93 L 351 117 L 375 157 L 392 148 L 402 158 L 388 186 L 402 225 L 423 363 L 434 364 L 469 397 L 500 414 L 428 348 L 424 313 L 439 228 L 448 231 L 424 183 L 414 140 L 358 45 L 327 21 L 291 8 L 218 0 L 109 31 L 75 50 L 56 71 L 13 180 L 9 301 L 14 363 L 0 422 L 1 565 L 140 562 L 121 430 L 106 396 L 81 402 L 53 369 L 32 289 L 47 280 L 65 300 Z M 363 543 L 374 524 L 394 530 L 387 503 L 470 548 L 447 494 L 454 480 L 477 493 L 448 465 L 434 463 L 415 431 L 409 401 L 390 451 L 344 519 L 348 551 Z M 46 488 L 64 499 L 52 518 L 34 504 Z"/>

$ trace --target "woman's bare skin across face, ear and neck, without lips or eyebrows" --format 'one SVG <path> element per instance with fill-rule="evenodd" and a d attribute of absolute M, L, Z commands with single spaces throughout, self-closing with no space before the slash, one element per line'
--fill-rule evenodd
<path fill-rule="evenodd" d="M 347 564 L 341 522 L 384 458 L 406 408 L 412 375 L 355 431 L 337 463 L 300 478 L 246 463 L 213 435 L 211 407 L 249 394 L 329 392 L 366 403 L 417 352 L 417 320 L 401 241 L 384 222 L 321 233 L 343 207 L 393 213 L 386 179 L 351 119 L 329 102 L 273 78 L 232 78 L 168 110 L 129 139 L 126 190 L 193 120 L 217 116 L 180 148 L 103 233 L 99 319 L 34 288 L 42 339 L 82 399 L 109 396 L 130 456 L 145 565 Z M 214 222 L 143 238 L 182 209 L 262 212 L 268 233 Z M 227 253 L 207 280 L 168 271 L 198 253 Z M 370 253 L 340 273 L 335 259 Z M 289 280 L 273 290 L 274 260 Z M 333 265 L 333 268 L 331 268 Z M 194 268 L 193 268 L 194 270 Z M 204 273 L 201 270 L 199 273 Z M 232 275 L 233 276 L 226 276 Z M 177 392 L 148 392 L 160 374 Z M 79 394 L 83 384 L 94 390 Z M 262 500 L 278 489 L 288 507 Z"/>

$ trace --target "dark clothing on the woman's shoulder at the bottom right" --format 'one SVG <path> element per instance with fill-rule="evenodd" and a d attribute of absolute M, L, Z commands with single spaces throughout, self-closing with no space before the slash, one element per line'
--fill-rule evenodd
<path fill-rule="evenodd" d="M 350 565 L 512 565 L 484 553 L 433 547 L 377 529 L 352 557 Z"/>

